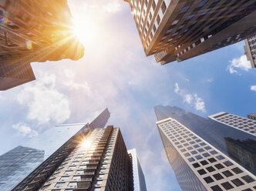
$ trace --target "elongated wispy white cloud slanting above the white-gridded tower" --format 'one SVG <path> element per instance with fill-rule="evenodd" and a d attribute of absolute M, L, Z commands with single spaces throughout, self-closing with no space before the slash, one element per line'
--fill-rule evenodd
<path fill-rule="evenodd" d="M 190 106 L 194 106 L 194 109 L 197 109 L 201 112 L 206 112 L 204 99 L 198 97 L 196 93 L 186 93 L 184 89 L 180 89 L 180 86 L 178 85 L 177 82 L 175 83 L 174 92 L 177 93 L 177 95 L 180 95 L 183 98 L 184 102 L 186 102 Z"/>

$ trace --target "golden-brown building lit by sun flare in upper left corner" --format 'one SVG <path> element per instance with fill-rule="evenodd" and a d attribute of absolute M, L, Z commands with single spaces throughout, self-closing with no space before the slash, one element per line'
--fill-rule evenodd
<path fill-rule="evenodd" d="M 31 62 L 83 57 L 66 0 L 4 0 L 0 12 L 0 90 L 35 79 Z"/>

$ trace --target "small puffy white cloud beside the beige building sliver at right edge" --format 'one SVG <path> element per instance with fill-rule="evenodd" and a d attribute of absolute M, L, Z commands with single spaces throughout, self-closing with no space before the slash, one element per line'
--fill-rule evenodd
<path fill-rule="evenodd" d="M 248 70 L 251 69 L 251 63 L 247 60 L 246 55 L 241 55 L 240 58 L 233 59 L 230 65 L 227 66 L 227 69 L 231 74 L 239 74 L 237 69 L 248 72 Z"/>

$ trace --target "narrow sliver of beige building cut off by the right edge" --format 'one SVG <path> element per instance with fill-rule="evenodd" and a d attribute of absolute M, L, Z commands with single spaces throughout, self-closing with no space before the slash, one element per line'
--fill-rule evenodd
<path fill-rule="evenodd" d="M 251 62 L 251 68 L 256 68 L 256 35 L 244 40 L 244 54 Z"/>

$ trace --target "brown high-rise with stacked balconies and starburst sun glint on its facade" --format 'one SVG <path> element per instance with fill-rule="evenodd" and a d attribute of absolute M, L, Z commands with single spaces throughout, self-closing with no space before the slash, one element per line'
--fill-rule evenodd
<path fill-rule="evenodd" d="M 14 190 L 131 191 L 132 168 L 120 129 L 107 126 L 73 136 Z"/>

